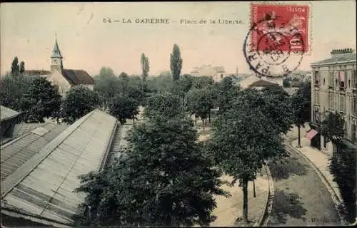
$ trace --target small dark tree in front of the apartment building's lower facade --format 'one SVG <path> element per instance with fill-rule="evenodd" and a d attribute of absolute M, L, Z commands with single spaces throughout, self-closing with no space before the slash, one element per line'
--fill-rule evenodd
<path fill-rule="evenodd" d="M 321 135 L 325 138 L 326 142 L 333 143 L 333 155 L 339 155 L 339 148 L 345 129 L 345 120 L 339 113 L 328 113 L 326 118 L 321 122 Z M 336 150 L 336 152 L 335 152 Z"/>

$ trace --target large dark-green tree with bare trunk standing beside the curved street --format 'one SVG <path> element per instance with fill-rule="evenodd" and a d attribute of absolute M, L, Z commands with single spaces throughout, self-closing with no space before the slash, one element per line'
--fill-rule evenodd
<path fill-rule="evenodd" d="M 213 123 L 207 147 L 218 167 L 233 177 L 231 184 L 239 180 L 243 190 L 245 223 L 248 222 L 248 181 L 256 179 L 265 160 L 287 156 L 282 141 L 274 120 L 249 100 L 237 103 Z"/>

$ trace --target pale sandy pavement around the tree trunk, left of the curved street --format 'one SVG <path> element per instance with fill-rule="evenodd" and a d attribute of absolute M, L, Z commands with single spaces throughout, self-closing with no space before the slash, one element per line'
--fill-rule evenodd
<path fill-rule="evenodd" d="M 256 197 L 253 197 L 253 182 L 248 183 L 248 219 L 252 224 L 261 221 L 262 216 L 266 210 L 266 202 L 268 200 L 268 177 L 265 169 L 262 169 L 263 175 L 256 178 Z M 221 177 L 222 180 L 233 180 L 232 177 L 225 175 Z M 233 187 L 223 185 L 223 190 L 228 191 L 231 197 L 216 196 L 217 207 L 212 214 L 217 217 L 216 221 L 210 224 L 211 227 L 236 227 L 235 224 L 238 217 L 243 215 L 243 191 L 238 187 L 239 182 Z M 251 225 L 252 225 L 251 224 Z"/>

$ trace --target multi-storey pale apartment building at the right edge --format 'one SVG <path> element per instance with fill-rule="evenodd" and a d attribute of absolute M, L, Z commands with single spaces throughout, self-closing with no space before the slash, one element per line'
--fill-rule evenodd
<path fill-rule="evenodd" d="M 357 76 L 356 53 L 352 48 L 331 51 L 331 57 L 311 64 L 311 145 L 332 153 L 331 142 L 318 133 L 318 125 L 328 112 L 338 112 L 344 118 L 348 147 L 357 148 Z"/>

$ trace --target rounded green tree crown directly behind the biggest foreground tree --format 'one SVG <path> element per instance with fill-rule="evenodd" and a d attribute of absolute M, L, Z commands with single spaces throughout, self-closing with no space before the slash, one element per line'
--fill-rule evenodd
<path fill-rule="evenodd" d="M 171 93 L 152 95 L 146 102 L 144 116 L 154 118 L 175 118 L 184 114 L 183 105 L 178 96 Z"/>

